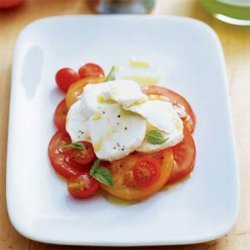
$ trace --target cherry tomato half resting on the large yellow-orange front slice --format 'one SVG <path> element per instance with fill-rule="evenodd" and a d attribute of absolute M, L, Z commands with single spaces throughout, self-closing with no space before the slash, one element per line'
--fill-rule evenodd
<path fill-rule="evenodd" d="M 148 187 L 160 177 L 159 163 L 152 157 L 142 157 L 135 163 L 133 175 L 139 187 Z"/>

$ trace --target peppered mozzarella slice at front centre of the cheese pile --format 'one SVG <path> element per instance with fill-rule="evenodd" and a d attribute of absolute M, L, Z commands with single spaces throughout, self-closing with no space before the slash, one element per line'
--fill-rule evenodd
<path fill-rule="evenodd" d="M 140 115 L 110 104 L 88 121 L 88 129 L 98 158 L 113 161 L 125 157 L 141 145 L 146 121 Z"/>

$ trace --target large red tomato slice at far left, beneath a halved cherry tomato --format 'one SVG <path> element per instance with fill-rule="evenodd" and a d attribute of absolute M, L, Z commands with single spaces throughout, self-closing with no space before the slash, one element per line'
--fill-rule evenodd
<path fill-rule="evenodd" d="M 83 167 L 74 161 L 71 149 L 64 146 L 71 143 L 66 132 L 57 131 L 49 143 L 49 158 L 53 169 L 66 179 L 76 177 L 83 173 Z"/>

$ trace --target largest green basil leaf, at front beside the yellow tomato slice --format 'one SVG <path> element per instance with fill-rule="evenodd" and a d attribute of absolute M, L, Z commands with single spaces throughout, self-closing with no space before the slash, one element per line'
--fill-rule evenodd
<path fill-rule="evenodd" d="M 113 176 L 109 169 L 101 167 L 100 160 L 96 160 L 90 170 L 90 175 L 102 184 L 112 187 L 113 186 Z"/>

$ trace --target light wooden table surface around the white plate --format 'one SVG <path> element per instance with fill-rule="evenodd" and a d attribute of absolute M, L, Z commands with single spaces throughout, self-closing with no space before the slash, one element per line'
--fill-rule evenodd
<path fill-rule="evenodd" d="M 20 30 L 45 16 L 91 13 L 84 0 L 27 0 L 19 8 L 0 13 L 0 249 L 97 249 L 63 247 L 30 241 L 11 226 L 6 210 L 5 166 L 12 52 Z M 191 246 L 151 247 L 175 250 L 250 249 L 250 27 L 224 24 L 210 17 L 198 0 L 159 0 L 153 14 L 182 15 L 208 23 L 224 48 L 230 86 L 233 125 L 240 164 L 241 209 L 234 228 L 223 238 Z M 209 65 L 207 65 L 209 67 Z M 99 248 L 98 248 L 99 249 Z M 141 248 L 137 248 L 141 249 Z"/>

